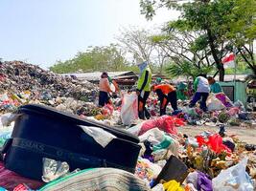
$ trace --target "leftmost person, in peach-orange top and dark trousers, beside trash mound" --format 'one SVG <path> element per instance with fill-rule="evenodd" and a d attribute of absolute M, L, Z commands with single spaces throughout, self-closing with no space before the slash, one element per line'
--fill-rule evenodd
<path fill-rule="evenodd" d="M 111 93 L 110 84 L 108 81 L 108 74 L 104 72 L 100 79 L 100 94 L 99 94 L 99 106 L 104 107 L 105 104 L 111 103 L 109 93 Z"/>

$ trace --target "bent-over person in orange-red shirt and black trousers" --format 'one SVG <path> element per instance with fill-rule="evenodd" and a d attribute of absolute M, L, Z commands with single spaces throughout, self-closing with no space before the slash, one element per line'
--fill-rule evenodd
<path fill-rule="evenodd" d="M 166 115 L 166 107 L 169 102 L 175 110 L 177 110 L 177 98 L 175 87 L 170 84 L 153 85 L 151 91 L 156 93 L 160 101 L 160 116 Z"/>

